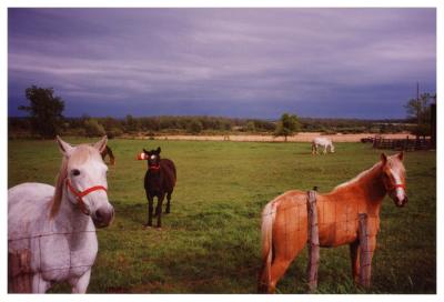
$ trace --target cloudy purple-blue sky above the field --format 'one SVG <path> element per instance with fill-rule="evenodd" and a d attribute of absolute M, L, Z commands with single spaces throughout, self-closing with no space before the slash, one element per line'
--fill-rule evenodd
<path fill-rule="evenodd" d="M 435 9 L 9 9 L 8 113 L 404 118 L 436 91 Z"/>

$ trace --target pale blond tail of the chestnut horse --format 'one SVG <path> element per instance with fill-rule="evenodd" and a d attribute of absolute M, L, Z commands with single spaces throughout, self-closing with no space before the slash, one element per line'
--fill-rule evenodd
<path fill-rule="evenodd" d="M 266 292 L 271 279 L 271 263 L 273 260 L 273 224 L 276 217 L 276 203 L 269 202 L 262 211 L 262 269 L 259 275 L 258 291 Z"/>

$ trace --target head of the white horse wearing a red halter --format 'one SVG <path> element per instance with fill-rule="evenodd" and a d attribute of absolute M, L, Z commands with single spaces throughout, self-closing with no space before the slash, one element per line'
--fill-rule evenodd
<path fill-rule="evenodd" d="M 114 209 L 108 200 L 108 167 L 101 157 L 107 137 L 92 145 L 73 147 L 59 137 L 57 141 L 64 157 L 64 178 L 59 177 L 62 179 L 59 182 L 65 188 L 68 200 L 90 215 L 95 226 L 108 226 L 114 217 Z"/>

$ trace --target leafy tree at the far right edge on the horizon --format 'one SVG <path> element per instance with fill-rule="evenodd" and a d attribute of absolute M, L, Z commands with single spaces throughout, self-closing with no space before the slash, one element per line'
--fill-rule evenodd
<path fill-rule="evenodd" d="M 430 93 L 423 93 L 418 99 L 411 99 L 404 105 L 408 118 L 414 119 L 416 122 L 416 128 L 412 131 L 416 135 L 428 135 L 431 133 L 431 99 L 432 95 Z"/>

